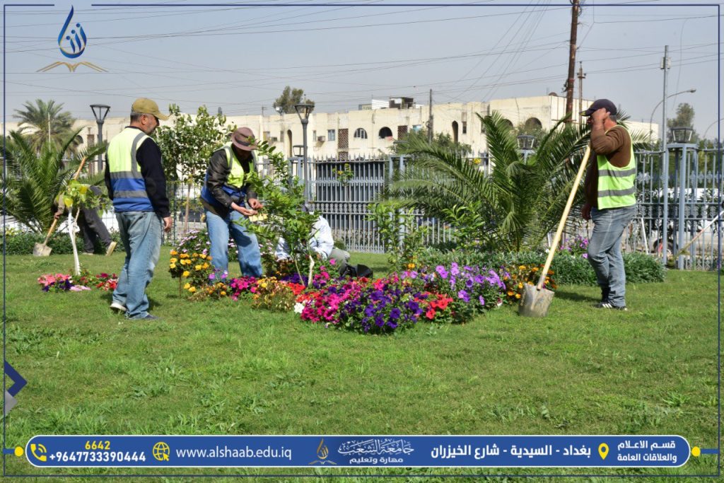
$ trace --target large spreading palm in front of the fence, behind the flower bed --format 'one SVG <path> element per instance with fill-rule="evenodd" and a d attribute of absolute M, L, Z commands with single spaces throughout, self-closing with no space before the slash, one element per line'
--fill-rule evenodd
<path fill-rule="evenodd" d="M 523 159 L 514 131 L 500 114 L 478 117 L 494 163 L 490 175 L 449 149 L 412 138 L 408 150 L 417 157 L 395 176 L 385 198 L 453 225 L 460 224 L 463 212 L 479 227 L 476 238 L 483 249 L 540 248 L 563 214 L 589 142 L 588 127 L 562 119 L 542 133 L 536 151 Z M 579 189 L 576 203 L 583 198 Z"/>

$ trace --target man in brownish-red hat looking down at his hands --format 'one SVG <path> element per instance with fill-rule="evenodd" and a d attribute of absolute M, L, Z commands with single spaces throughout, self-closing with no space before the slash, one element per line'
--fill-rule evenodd
<path fill-rule="evenodd" d="M 211 154 L 201 189 L 201 203 L 206 211 L 211 264 L 216 271 L 226 272 L 229 267 L 231 237 L 237 246 L 241 273 L 261 277 L 261 253 L 256 235 L 235 223 L 264 207 L 246 180 L 251 170 L 256 169 L 254 150 L 257 146 L 253 144 L 253 137 L 251 129 L 240 127 L 231 135 L 230 142 Z"/>

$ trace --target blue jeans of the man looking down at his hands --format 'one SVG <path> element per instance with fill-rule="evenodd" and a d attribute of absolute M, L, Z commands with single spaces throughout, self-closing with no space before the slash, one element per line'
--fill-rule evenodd
<path fill-rule="evenodd" d="M 211 242 L 211 264 L 216 272 L 226 272 L 229 268 L 229 237 L 234 239 L 239 251 L 239 268 L 243 275 L 261 277 L 261 252 L 256 235 L 246 231 L 235 220 L 244 215 L 238 211 L 229 210 L 226 217 L 206 210 L 206 228 L 209 230 Z"/>

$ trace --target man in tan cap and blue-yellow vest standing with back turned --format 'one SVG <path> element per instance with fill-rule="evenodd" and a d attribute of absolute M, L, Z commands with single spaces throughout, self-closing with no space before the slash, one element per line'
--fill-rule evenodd
<path fill-rule="evenodd" d="M 130 125 L 111 139 L 106 153 L 106 187 L 126 248 L 111 308 L 125 312 L 128 319 L 158 319 L 148 313 L 146 286 L 151 283 L 163 232 L 171 230 L 172 218 L 161 150 L 149 136 L 159 126 L 159 119 L 168 118 L 151 99 L 136 99 Z"/>

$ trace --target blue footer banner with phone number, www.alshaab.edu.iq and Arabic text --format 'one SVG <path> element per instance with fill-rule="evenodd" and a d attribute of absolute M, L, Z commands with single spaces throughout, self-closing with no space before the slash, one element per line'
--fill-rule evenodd
<path fill-rule="evenodd" d="M 681 436 L 35 436 L 39 467 L 676 467 Z"/>

